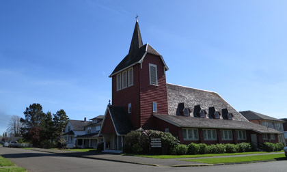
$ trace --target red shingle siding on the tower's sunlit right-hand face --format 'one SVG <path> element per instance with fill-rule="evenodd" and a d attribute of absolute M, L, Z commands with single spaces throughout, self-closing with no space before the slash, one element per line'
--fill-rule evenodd
<path fill-rule="evenodd" d="M 158 86 L 150 85 L 149 64 L 156 65 Z M 157 112 L 167 114 L 167 87 L 164 72 L 164 64 L 161 57 L 147 54 L 143 59 L 142 68 L 139 76 L 139 107 L 140 107 L 140 126 L 147 129 L 152 128 L 152 102 L 157 104 Z"/>

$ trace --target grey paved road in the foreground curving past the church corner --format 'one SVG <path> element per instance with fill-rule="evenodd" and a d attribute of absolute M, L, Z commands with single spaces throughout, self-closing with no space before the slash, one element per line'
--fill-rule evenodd
<path fill-rule="evenodd" d="M 151 167 L 87 158 L 75 158 L 59 154 L 36 152 L 26 149 L 0 147 L 0 155 L 9 158 L 18 167 L 33 171 L 287 171 L 287 161 L 260 162 L 213 167 Z"/>

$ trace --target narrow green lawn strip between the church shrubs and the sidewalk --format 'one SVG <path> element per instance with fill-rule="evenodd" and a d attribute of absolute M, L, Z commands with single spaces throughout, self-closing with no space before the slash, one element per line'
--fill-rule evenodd
<path fill-rule="evenodd" d="M 284 151 L 280 151 L 284 152 Z M 141 154 L 122 154 L 124 156 L 140 156 L 156 159 L 172 159 L 172 158 L 198 158 L 210 156 L 232 156 L 232 155 L 247 155 L 247 154 L 264 154 L 268 152 L 241 152 L 241 153 L 226 153 L 226 154 L 197 154 L 197 155 L 141 155 Z"/>

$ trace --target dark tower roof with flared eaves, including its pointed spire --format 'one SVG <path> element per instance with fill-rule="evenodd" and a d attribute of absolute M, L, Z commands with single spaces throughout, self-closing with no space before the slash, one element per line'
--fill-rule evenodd
<path fill-rule="evenodd" d="M 141 31 L 139 31 L 139 23 L 136 22 L 128 55 L 126 55 L 126 57 L 124 57 L 124 59 L 120 61 L 118 66 L 115 67 L 115 70 L 113 70 L 113 72 L 109 77 L 117 74 L 118 72 L 121 72 L 122 70 L 126 70 L 127 68 L 130 68 L 131 66 L 134 66 L 137 63 L 142 63 L 146 53 L 150 53 L 152 55 L 158 55 L 159 57 L 161 57 L 161 60 L 165 65 L 165 70 L 168 70 L 161 54 L 159 54 L 154 48 L 152 48 L 150 44 L 143 45 L 143 41 L 141 39 Z"/>

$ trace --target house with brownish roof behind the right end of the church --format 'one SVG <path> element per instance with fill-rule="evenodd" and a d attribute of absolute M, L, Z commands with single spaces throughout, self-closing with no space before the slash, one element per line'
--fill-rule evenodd
<path fill-rule="evenodd" d="M 267 128 L 273 128 L 279 132 L 281 132 L 280 134 L 277 135 L 278 137 L 278 141 L 280 143 L 286 143 L 285 142 L 285 138 L 284 138 L 284 128 L 283 128 L 283 124 L 284 121 L 282 119 L 276 119 L 274 117 L 270 117 L 267 115 L 263 115 L 261 113 L 256 113 L 254 111 L 240 111 L 239 113 L 241 113 L 246 119 L 248 119 L 249 121 L 255 123 L 255 124 L 259 124 L 262 126 L 265 126 Z M 277 142 L 275 139 L 275 136 L 273 134 L 264 134 L 263 135 L 264 141 L 269 141 L 269 142 Z"/>

